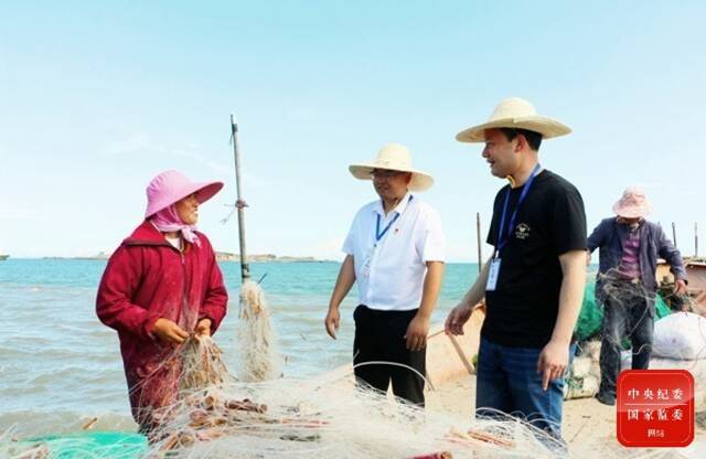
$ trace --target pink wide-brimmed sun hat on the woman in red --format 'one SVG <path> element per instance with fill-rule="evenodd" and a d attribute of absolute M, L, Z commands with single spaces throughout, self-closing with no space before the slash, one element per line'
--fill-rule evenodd
<path fill-rule="evenodd" d="M 145 218 L 149 218 L 162 209 L 196 193 L 199 204 L 213 198 L 223 188 L 223 182 L 192 182 L 179 171 L 164 171 L 147 185 L 147 210 Z"/>

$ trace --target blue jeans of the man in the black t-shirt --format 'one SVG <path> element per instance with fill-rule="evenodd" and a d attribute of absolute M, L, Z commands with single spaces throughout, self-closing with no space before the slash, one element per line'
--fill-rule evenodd
<path fill-rule="evenodd" d="M 569 361 L 576 344 L 569 349 Z M 537 360 L 542 349 L 510 348 L 481 338 L 475 385 L 475 417 L 498 418 L 496 410 L 520 417 L 561 440 L 564 378 L 542 388 Z M 490 408 L 490 409 L 488 409 Z"/>

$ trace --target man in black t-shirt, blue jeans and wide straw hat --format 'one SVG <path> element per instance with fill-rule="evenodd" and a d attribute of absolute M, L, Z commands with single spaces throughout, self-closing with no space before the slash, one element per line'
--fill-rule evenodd
<path fill-rule="evenodd" d="M 463 324 L 483 297 L 475 414 L 517 415 L 563 445 L 564 373 L 586 285 L 586 214 L 578 190 L 542 169 L 543 139 L 570 129 L 537 116 L 526 100 L 501 102 L 490 120 L 460 132 L 485 142 L 491 173 L 505 178 L 493 205 L 488 243 L 495 247 L 475 284 L 446 321 Z"/>

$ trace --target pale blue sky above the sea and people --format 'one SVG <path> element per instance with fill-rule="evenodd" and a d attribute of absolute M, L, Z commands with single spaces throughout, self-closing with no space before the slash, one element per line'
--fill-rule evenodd
<path fill-rule="evenodd" d="M 105 3 L 105 4 L 104 4 Z M 503 182 L 459 130 L 507 96 L 574 134 L 543 166 L 575 183 L 589 227 L 628 185 L 685 254 L 706 253 L 706 4 L 682 2 L 2 2 L 0 250 L 109 252 L 145 186 L 223 180 L 200 227 L 237 252 L 228 116 L 240 127 L 248 252 L 340 258 L 375 198 L 347 164 L 384 143 L 435 175 L 451 260 L 475 259 Z M 488 254 L 485 247 L 485 254 Z"/>

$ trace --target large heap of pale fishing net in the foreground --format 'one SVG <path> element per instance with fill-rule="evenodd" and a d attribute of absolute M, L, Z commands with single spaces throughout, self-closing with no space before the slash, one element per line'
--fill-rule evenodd
<path fill-rule="evenodd" d="M 184 374 L 216 374 L 190 377 L 206 383 L 200 387 L 182 384 L 179 402 L 163 408 L 161 423 L 151 433 L 150 453 L 413 458 L 446 451 L 453 457 L 486 452 L 486 457 L 538 458 L 563 448 L 547 434 L 506 415 L 469 424 L 355 385 L 350 375 L 237 382 L 227 375 L 223 362 L 214 364 L 220 353 L 213 341 L 194 340 L 185 348 L 199 357 L 184 361 Z"/>

